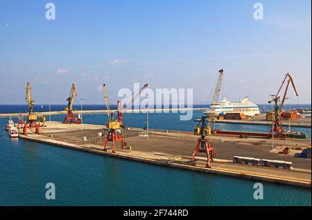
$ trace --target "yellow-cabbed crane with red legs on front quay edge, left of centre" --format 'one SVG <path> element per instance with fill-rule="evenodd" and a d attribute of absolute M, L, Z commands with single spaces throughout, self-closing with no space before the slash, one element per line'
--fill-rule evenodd
<path fill-rule="evenodd" d="M 110 99 L 108 98 L 108 93 L 106 89 L 106 84 L 103 84 L 104 91 L 104 100 L 107 109 L 107 118 L 108 122 L 106 123 L 107 134 L 104 140 L 104 151 L 106 152 L 107 142 L 112 142 L 112 152 L 115 153 L 115 143 L 121 142 L 121 149 L 124 149 L 127 146 L 125 143 L 125 138 L 123 138 L 123 134 L 121 131 L 121 124 L 119 120 L 114 120 L 114 113 L 110 109 Z"/>

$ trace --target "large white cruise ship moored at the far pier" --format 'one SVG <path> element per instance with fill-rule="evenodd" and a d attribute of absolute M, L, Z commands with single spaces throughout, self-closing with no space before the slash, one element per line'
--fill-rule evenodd
<path fill-rule="evenodd" d="M 206 116 L 218 116 L 220 113 L 244 113 L 245 116 L 256 116 L 260 114 L 259 107 L 248 100 L 248 97 L 237 102 L 229 102 L 224 98 L 221 102 L 211 104 L 209 109 L 204 111 Z"/>

